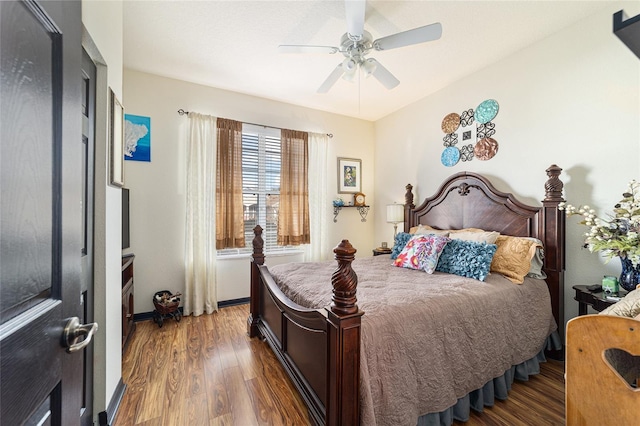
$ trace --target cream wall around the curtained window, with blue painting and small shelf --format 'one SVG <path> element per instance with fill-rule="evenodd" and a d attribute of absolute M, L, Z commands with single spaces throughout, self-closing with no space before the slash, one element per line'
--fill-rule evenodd
<path fill-rule="evenodd" d="M 156 75 L 125 70 L 127 114 L 151 118 L 151 162 L 125 161 L 125 186 L 130 188 L 131 248 L 135 253 L 135 312 L 153 310 L 158 290 L 184 291 L 185 153 L 188 118 L 182 108 L 234 120 L 310 132 L 332 133 L 329 142 L 329 194 L 337 193 L 337 157 L 362 159 L 362 190 L 375 202 L 373 123 L 301 108 L 281 102 L 205 87 Z M 326 208 L 332 211 L 330 204 Z M 355 209 L 345 209 L 326 230 L 330 244 L 346 238 L 370 256 L 372 209 L 367 222 Z M 267 264 L 293 258 L 269 258 Z M 218 300 L 249 296 L 249 260 L 218 259 Z"/>

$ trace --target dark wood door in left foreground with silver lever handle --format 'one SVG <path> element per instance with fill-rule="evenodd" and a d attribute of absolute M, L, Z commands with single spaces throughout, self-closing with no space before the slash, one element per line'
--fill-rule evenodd
<path fill-rule="evenodd" d="M 0 1 L 2 425 L 80 423 L 81 25 L 78 1 Z"/>

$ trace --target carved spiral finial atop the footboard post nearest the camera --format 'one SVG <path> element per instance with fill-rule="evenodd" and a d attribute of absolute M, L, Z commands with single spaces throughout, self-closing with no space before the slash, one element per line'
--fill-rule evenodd
<path fill-rule="evenodd" d="M 349 240 L 342 240 L 333 249 L 336 254 L 335 259 L 338 261 L 338 269 L 331 276 L 331 284 L 333 285 L 331 310 L 338 315 L 358 312 L 358 306 L 356 305 L 358 277 L 351 269 L 351 262 L 355 258 L 356 251 Z"/>

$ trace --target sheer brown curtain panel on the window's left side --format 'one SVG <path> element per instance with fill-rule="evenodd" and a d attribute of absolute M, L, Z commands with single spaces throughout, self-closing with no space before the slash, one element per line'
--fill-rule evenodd
<path fill-rule="evenodd" d="M 216 249 L 242 248 L 242 123 L 218 118 L 216 168 Z"/>

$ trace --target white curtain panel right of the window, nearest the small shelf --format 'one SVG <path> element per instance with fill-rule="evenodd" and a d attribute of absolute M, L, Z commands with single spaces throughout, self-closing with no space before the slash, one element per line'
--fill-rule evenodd
<path fill-rule="evenodd" d="M 309 133 L 309 227 L 311 244 L 306 246 L 305 260 L 317 262 L 332 258 L 327 242 L 330 200 L 327 196 L 327 153 L 329 137 Z"/>

